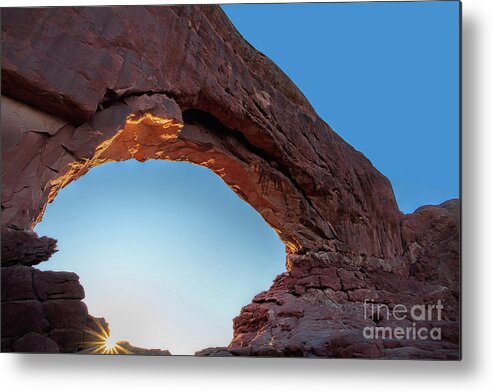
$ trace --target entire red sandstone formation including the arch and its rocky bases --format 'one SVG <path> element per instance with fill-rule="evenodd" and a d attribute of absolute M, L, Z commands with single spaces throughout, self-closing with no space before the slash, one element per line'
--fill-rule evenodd
<path fill-rule="evenodd" d="M 77 285 L 20 265 L 55 250 L 32 229 L 61 188 L 132 158 L 208 167 L 286 244 L 287 272 L 241 311 L 231 345 L 200 355 L 459 356 L 458 202 L 403 216 L 389 181 L 217 6 L 2 10 L 2 279 L 21 297 L 2 306 L 6 350 L 80 348 Z M 371 299 L 443 300 L 446 337 L 365 339 L 382 324 L 361 315 Z"/>

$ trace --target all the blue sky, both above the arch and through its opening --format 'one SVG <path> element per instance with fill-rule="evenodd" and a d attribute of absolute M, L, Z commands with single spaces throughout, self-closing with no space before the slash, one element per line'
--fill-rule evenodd
<path fill-rule="evenodd" d="M 458 196 L 458 3 L 223 6 L 318 114 L 391 180 L 402 211 Z M 117 338 L 190 354 L 284 270 L 284 246 L 217 176 L 127 161 L 63 189 L 36 227 Z"/>

